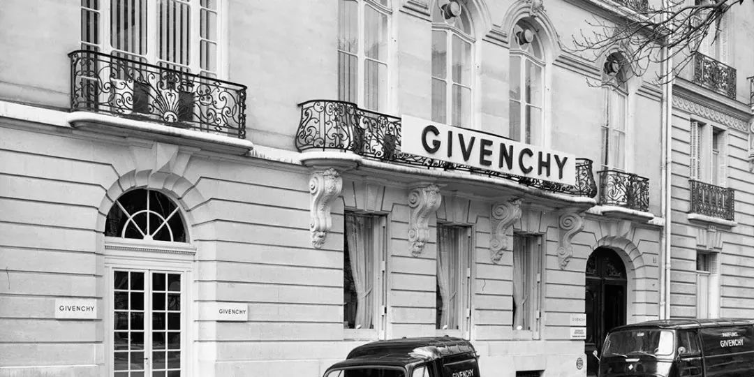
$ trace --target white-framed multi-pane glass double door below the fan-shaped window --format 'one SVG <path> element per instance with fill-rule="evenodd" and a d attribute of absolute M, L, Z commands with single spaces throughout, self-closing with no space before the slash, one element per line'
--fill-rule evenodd
<path fill-rule="evenodd" d="M 109 271 L 111 375 L 180 376 L 185 371 L 182 272 L 124 268 Z"/>

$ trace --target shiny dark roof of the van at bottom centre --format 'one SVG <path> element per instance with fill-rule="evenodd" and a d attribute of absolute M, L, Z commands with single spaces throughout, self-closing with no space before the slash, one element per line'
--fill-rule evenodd
<path fill-rule="evenodd" d="M 449 336 L 382 340 L 354 348 L 346 360 L 333 364 L 330 369 L 360 365 L 403 367 L 462 354 L 476 357 L 474 346 L 465 339 Z"/>

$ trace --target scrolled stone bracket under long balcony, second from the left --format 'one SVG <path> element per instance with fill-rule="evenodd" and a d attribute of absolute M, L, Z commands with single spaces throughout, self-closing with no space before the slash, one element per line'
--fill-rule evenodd
<path fill-rule="evenodd" d="M 429 241 L 429 216 L 442 201 L 437 185 L 424 185 L 409 192 L 409 244 L 411 254 L 419 256 Z"/>

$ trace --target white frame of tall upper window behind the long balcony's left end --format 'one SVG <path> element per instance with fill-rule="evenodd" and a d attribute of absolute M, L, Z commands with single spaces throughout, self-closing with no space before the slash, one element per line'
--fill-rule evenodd
<path fill-rule="evenodd" d="M 354 2 L 357 6 L 357 51 L 356 54 L 353 54 L 348 51 L 342 51 L 342 49 L 339 46 L 336 46 L 336 55 L 338 56 L 338 66 L 336 67 L 337 76 L 338 76 L 338 82 L 337 82 L 337 90 L 338 90 L 338 100 L 347 101 L 351 103 L 356 103 L 357 106 L 359 106 L 362 109 L 371 110 L 374 112 L 388 112 L 389 109 L 391 109 L 391 102 L 392 102 L 392 85 L 391 85 L 391 61 L 393 57 L 393 51 L 392 51 L 392 40 L 394 38 L 392 37 L 392 15 L 393 10 L 391 9 L 391 1 L 395 0 L 385 0 L 385 4 L 382 4 L 379 2 L 379 0 L 338 0 L 338 6 L 341 5 L 342 2 Z M 376 11 L 378 14 L 385 16 L 386 22 L 385 22 L 385 60 L 377 60 L 373 59 L 371 57 L 366 57 L 366 8 L 372 8 L 374 11 Z M 339 12 L 339 11 L 338 11 Z M 341 27 L 341 17 L 338 13 L 338 20 L 337 20 L 337 27 L 340 29 Z M 340 38 L 340 35 L 338 35 L 338 38 Z M 341 81 L 341 72 L 340 72 L 340 54 L 346 54 L 349 56 L 355 56 L 356 57 L 356 98 L 348 98 L 351 97 L 351 90 L 353 88 L 348 87 L 348 85 L 342 84 Z M 366 103 L 366 91 L 369 90 L 369 87 L 366 86 L 366 62 L 367 61 L 374 61 L 378 64 L 384 64 L 385 65 L 385 93 L 382 94 L 384 98 L 380 98 L 380 93 L 378 92 L 377 101 L 378 105 L 376 108 L 373 108 L 374 106 L 369 106 L 368 103 Z M 379 86 L 378 86 L 379 88 Z M 344 95 L 345 93 L 345 95 Z M 384 100 L 384 103 L 380 104 L 380 101 Z"/>

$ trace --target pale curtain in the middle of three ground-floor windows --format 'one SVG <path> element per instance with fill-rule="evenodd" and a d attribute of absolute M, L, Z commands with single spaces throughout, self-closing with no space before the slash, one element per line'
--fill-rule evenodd
<path fill-rule="evenodd" d="M 438 329 L 458 329 L 459 271 L 463 268 L 459 246 L 457 229 L 437 227 L 437 287 L 442 298 Z"/>

